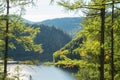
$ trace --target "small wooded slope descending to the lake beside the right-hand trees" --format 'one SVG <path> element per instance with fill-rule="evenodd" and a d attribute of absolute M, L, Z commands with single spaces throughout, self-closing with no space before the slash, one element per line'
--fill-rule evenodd
<path fill-rule="evenodd" d="M 79 52 L 75 51 L 75 49 L 80 47 L 82 40 L 83 40 L 82 38 L 77 37 L 68 44 L 66 44 L 63 48 L 56 51 L 53 54 L 53 59 L 54 59 L 53 61 L 56 62 L 59 59 L 64 60 L 65 56 L 71 59 L 80 59 Z"/>

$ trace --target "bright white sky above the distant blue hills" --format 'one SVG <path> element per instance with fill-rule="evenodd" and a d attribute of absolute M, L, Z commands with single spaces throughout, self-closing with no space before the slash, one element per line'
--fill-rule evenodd
<path fill-rule="evenodd" d="M 66 11 L 57 4 L 50 4 L 50 0 L 38 0 L 35 7 L 27 7 L 23 18 L 39 22 L 46 19 L 62 18 L 62 17 L 78 17 L 80 15 Z"/>

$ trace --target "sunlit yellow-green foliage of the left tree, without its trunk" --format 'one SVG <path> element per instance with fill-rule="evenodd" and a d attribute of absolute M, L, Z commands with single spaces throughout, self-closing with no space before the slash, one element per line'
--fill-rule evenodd
<path fill-rule="evenodd" d="M 3 16 L 4 17 L 4 16 Z M 12 19 L 9 20 L 9 33 L 7 36 L 9 37 L 9 47 L 12 49 L 16 49 L 15 44 L 22 45 L 26 51 L 35 51 L 41 53 L 43 50 L 41 48 L 41 44 L 35 44 L 34 39 L 36 35 L 40 32 L 39 28 L 33 28 L 31 26 L 27 26 L 23 23 L 23 20 L 16 15 L 10 16 Z M 19 21 L 18 21 L 19 20 Z M 5 20 L 1 21 L 0 24 L 1 35 L 4 34 L 5 30 Z M 1 38 L 2 39 L 2 38 Z M 4 35 L 3 35 L 4 39 Z M 14 40 L 14 41 L 13 41 Z M 1 40 L 1 44 L 3 47 L 4 40 Z"/>

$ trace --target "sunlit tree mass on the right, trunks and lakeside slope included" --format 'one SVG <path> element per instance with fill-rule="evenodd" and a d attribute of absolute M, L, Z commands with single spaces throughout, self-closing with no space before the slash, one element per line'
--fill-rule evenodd
<path fill-rule="evenodd" d="M 74 75 L 78 80 L 119 80 L 119 3 L 118 0 L 58 1 L 68 11 L 85 10 L 86 17 L 77 37 L 54 53 L 55 65 L 71 69 L 77 66 Z M 77 39 L 80 43 L 73 48 Z M 78 55 L 79 59 L 69 55 Z"/>

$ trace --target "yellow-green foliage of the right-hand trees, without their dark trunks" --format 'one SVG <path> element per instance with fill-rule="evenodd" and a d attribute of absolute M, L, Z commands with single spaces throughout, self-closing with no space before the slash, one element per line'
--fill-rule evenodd
<path fill-rule="evenodd" d="M 114 0 L 115 3 L 119 4 L 118 0 Z M 118 80 L 120 78 L 119 69 L 119 53 L 120 49 L 120 35 L 119 35 L 119 29 L 120 29 L 120 12 L 118 9 L 115 9 L 114 13 L 114 25 L 112 25 L 111 22 L 111 0 L 102 1 L 102 0 L 92 0 L 88 3 L 85 3 L 84 1 L 76 0 L 73 2 L 70 2 L 69 0 L 60 0 L 59 5 L 65 7 L 68 10 L 79 10 L 84 9 L 85 13 L 87 13 L 86 18 L 83 19 L 82 27 L 84 30 L 80 31 L 78 33 L 78 37 L 83 38 L 82 44 L 79 43 L 79 46 L 76 46 L 76 48 L 70 50 L 67 48 L 63 48 L 57 52 L 54 53 L 53 56 L 58 58 L 56 60 L 55 64 L 59 65 L 68 65 L 69 62 L 77 63 L 79 61 L 83 61 L 81 63 L 78 63 L 79 66 L 78 73 L 75 74 L 75 76 L 78 78 L 78 80 L 99 80 L 99 67 L 100 67 L 100 48 L 102 47 L 105 50 L 105 63 L 104 63 L 104 76 L 105 80 L 111 79 L 111 29 L 114 30 L 114 67 L 115 67 L 115 80 Z M 100 19 L 100 9 L 103 8 L 102 4 L 105 4 L 106 9 L 106 17 L 105 17 L 105 43 L 104 45 L 100 46 L 100 36 L 101 36 L 101 19 Z M 109 4 L 109 5 L 108 5 Z M 117 8 L 116 4 L 114 4 Z M 77 37 L 77 38 L 78 38 Z M 69 44 L 69 43 L 68 43 Z M 72 44 L 74 45 L 74 44 Z M 67 55 L 70 54 L 70 52 L 64 55 L 62 55 L 62 59 L 60 57 L 60 54 L 62 51 L 68 50 L 72 53 L 78 53 L 81 60 L 75 60 Z"/>

